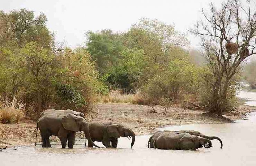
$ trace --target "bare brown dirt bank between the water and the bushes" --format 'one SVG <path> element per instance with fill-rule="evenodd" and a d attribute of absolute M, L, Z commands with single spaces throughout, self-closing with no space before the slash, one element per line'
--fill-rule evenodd
<path fill-rule="evenodd" d="M 173 105 L 166 113 L 159 106 L 154 107 L 157 113 L 150 113 L 152 107 L 147 105 L 133 105 L 124 103 L 103 103 L 95 106 L 94 111 L 99 120 L 122 123 L 131 128 L 136 135 L 150 134 L 157 131 L 157 127 L 175 124 L 199 124 L 199 123 L 227 123 L 228 121 L 202 115 L 202 110 L 189 110 L 180 108 L 180 105 Z M 254 111 L 255 107 L 240 105 L 233 113 L 226 113 L 224 116 L 230 119 L 243 119 L 246 113 Z M 92 117 L 95 117 L 92 114 Z M 92 119 L 87 116 L 88 121 Z M 22 119 L 18 124 L 0 124 L 0 148 L 19 145 L 33 145 L 35 142 L 36 123 Z M 77 133 L 77 139 L 83 138 L 82 132 Z M 41 138 L 38 135 L 38 143 Z M 58 141 L 52 136 L 52 141 Z"/>

